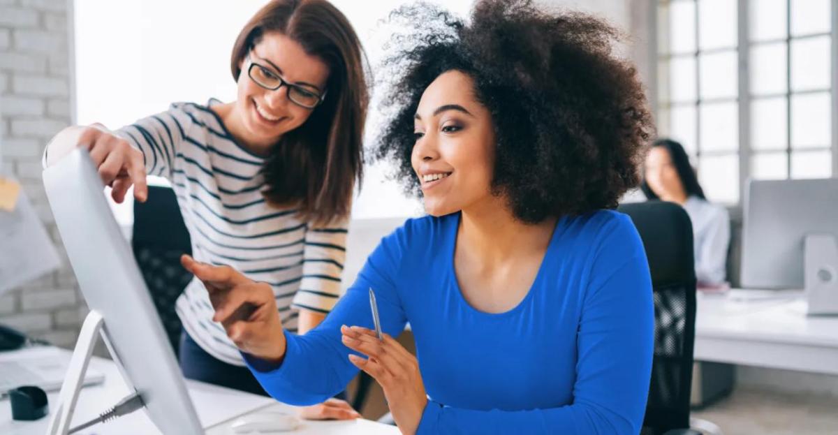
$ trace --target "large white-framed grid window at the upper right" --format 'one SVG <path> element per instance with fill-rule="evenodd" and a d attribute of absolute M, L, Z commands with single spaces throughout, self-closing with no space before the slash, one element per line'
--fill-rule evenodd
<path fill-rule="evenodd" d="M 663 0 L 658 127 L 681 142 L 711 200 L 747 178 L 835 173 L 829 0 Z"/>

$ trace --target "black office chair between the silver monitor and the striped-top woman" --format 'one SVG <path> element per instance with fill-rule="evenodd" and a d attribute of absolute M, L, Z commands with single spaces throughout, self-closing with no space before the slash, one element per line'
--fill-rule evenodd
<path fill-rule="evenodd" d="M 192 245 L 172 189 L 148 186 L 147 201 L 134 203 L 131 245 L 163 329 L 178 355 L 183 325 L 174 303 L 192 279 L 192 274 L 180 265 L 180 256 L 191 254 Z"/>

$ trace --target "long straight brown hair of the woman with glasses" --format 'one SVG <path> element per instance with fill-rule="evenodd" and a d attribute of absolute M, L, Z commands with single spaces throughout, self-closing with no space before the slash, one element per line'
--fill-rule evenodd
<path fill-rule="evenodd" d="M 365 56 L 343 13 L 326 0 L 272 0 L 241 29 L 230 58 L 233 79 L 261 36 L 278 32 L 329 67 L 326 98 L 302 126 L 271 149 L 262 192 L 272 205 L 294 206 L 320 224 L 349 215 L 354 183 L 363 179 L 369 92 Z"/>

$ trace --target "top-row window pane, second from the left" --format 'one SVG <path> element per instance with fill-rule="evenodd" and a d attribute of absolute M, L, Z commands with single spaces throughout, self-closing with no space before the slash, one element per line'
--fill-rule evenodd
<path fill-rule="evenodd" d="M 698 0 L 698 44 L 701 49 L 736 47 L 737 3 Z"/>

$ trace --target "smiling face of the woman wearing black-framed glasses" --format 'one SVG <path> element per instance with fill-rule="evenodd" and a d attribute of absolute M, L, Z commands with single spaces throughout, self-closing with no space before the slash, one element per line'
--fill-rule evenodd
<path fill-rule="evenodd" d="M 286 83 L 313 94 L 323 94 L 328 80 L 328 66 L 318 57 L 309 55 L 297 41 L 284 34 L 263 34 L 250 54 L 242 61 L 238 80 L 238 98 L 235 102 L 244 127 L 242 139 L 251 144 L 272 144 L 286 132 L 303 125 L 313 110 L 288 99 L 287 85 L 276 91 L 265 89 L 251 79 L 269 80 L 282 78 Z"/>

